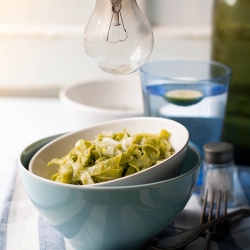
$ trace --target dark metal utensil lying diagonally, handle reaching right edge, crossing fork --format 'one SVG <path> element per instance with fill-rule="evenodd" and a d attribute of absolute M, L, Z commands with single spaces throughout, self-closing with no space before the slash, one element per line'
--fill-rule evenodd
<path fill-rule="evenodd" d="M 176 250 L 186 246 L 188 243 L 194 241 L 198 236 L 205 232 L 207 229 L 214 227 L 222 222 L 232 219 L 239 215 L 250 215 L 250 209 L 239 209 L 231 213 L 225 214 L 218 218 L 215 218 L 207 223 L 204 223 L 198 227 L 190 230 L 186 230 L 180 233 L 169 235 L 157 240 L 149 242 L 148 246 L 155 250 Z"/>

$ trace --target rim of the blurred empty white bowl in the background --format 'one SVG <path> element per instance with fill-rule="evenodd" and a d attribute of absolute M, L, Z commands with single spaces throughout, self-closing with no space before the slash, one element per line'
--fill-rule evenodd
<path fill-rule="evenodd" d="M 125 80 L 123 80 L 125 82 Z M 90 106 L 90 105 L 86 105 L 83 103 L 79 103 L 71 98 L 68 97 L 67 93 L 68 91 L 70 91 L 73 88 L 76 88 L 78 86 L 82 86 L 82 85 L 90 85 L 90 84 L 97 84 L 97 83 L 106 83 L 106 82 L 113 82 L 115 83 L 115 80 L 99 80 L 99 81 L 89 81 L 86 83 L 75 83 L 75 84 L 70 84 L 70 85 L 65 85 L 63 86 L 60 90 L 59 90 L 59 99 L 63 102 L 63 103 L 68 103 L 69 105 L 76 107 L 78 109 L 83 109 L 86 110 L 88 112 L 96 112 L 96 113 L 106 113 L 106 114 L 111 114 L 111 115 L 143 115 L 144 114 L 144 107 L 143 107 L 143 103 L 141 105 L 141 107 L 137 107 L 134 110 L 128 109 L 128 110 L 124 110 L 124 109 L 108 109 L 108 108 L 100 108 L 100 107 L 95 107 L 95 106 Z"/>

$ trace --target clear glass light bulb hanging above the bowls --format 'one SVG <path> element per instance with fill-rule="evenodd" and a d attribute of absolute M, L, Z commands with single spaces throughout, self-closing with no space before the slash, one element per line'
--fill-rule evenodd
<path fill-rule="evenodd" d="M 84 32 L 85 52 L 101 70 L 124 75 L 149 58 L 154 36 L 136 0 L 96 0 Z"/>

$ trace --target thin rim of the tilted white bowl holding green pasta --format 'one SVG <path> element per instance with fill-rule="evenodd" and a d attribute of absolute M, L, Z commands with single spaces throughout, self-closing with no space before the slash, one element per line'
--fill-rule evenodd
<path fill-rule="evenodd" d="M 145 171 L 145 172 L 146 172 L 146 171 L 147 171 L 147 172 L 148 172 L 148 171 L 151 171 L 153 167 L 157 167 L 157 166 L 159 166 L 159 165 L 162 165 L 162 164 L 164 164 L 166 161 L 171 160 L 174 156 L 177 156 L 178 154 L 180 154 L 183 150 L 187 150 L 188 143 L 189 143 L 189 132 L 188 132 L 188 130 L 186 129 L 186 127 L 184 127 L 182 124 L 180 124 L 180 123 L 178 123 L 178 122 L 176 122 L 176 121 L 174 121 L 174 120 L 171 120 L 171 119 L 159 118 L 159 117 L 132 117 L 132 118 L 123 118 L 123 119 L 118 119 L 118 120 L 113 120 L 113 121 L 108 121 L 108 122 L 102 122 L 102 123 L 96 124 L 96 125 L 94 125 L 94 126 L 90 126 L 90 127 L 88 127 L 88 128 L 84 128 L 84 129 L 76 130 L 76 131 L 73 131 L 73 132 L 69 132 L 69 133 L 66 133 L 66 134 L 63 134 L 63 135 L 57 137 L 56 139 L 50 141 L 49 143 L 47 143 L 46 145 L 44 145 L 42 148 L 40 148 L 40 149 L 32 156 L 32 158 L 31 158 L 31 160 L 30 160 L 30 162 L 29 162 L 29 166 L 28 166 L 27 171 L 30 172 L 30 173 L 32 173 L 33 175 L 35 175 L 32 171 L 29 170 L 29 169 L 30 169 L 30 165 L 31 165 L 32 162 L 34 161 L 34 158 L 35 158 L 35 157 L 36 157 L 45 147 L 47 147 L 47 146 L 49 146 L 49 145 L 55 143 L 56 141 L 59 141 L 59 140 L 65 138 L 65 137 L 70 137 L 71 135 L 74 135 L 74 134 L 76 134 L 76 133 L 78 133 L 78 132 L 80 132 L 80 131 L 86 131 L 86 130 L 88 130 L 88 129 L 100 127 L 100 126 L 103 126 L 103 125 L 106 126 L 106 125 L 108 125 L 108 124 L 122 123 L 123 121 L 131 121 L 131 120 L 132 120 L 132 121 L 136 121 L 136 120 L 152 120 L 152 121 L 154 121 L 154 120 L 155 120 L 156 122 L 159 121 L 159 120 L 168 121 L 168 122 L 171 122 L 171 123 L 175 123 L 176 125 L 178 124 L 178 126 L 180 126 L 180 127 L 182 127 L 182 128 L 184 129 L 184 131 L 186 132 L 186 135 L 187 135 L 185 144 L 182 146 L 182 148 L 181 148 L 178 152 L 176 152 L 174 155 L 168 157 L 168 158 L 165 159 L 164 161 L 162 161 L 162 162 L 160 162 L 160 163 L 158 163 L 158 164 L 156 164 L 156 165 L 154 165 L 154 166 L 152 166 L 152 167 L 150 167 L 150 168 L 147 168 L 147 169 L 145 169 L 145 170 L 143 170 L 143 171 Z M 199 155 L 198 152 L 197 152 L 197 154 Z M 138 174 L 140 174 L 140 173 L 141 173 L 141 172 L 135 173 L 135 174 L 133 174 L 133 176 L 138 175 Z M 39 177 L 39 178 L 41 178 L 41 179 L 43 179 L 43 180 L 48 180 L 48 179 L 45 179 L 45 178 L 40 177 L 40 176 L 38 176 L 38 175 L 35 175 L 35 176 L 37 176 L 37 177 Z M 123 177 L 123 179 L 124 179 L 124 178 L 128 179 L 128 178 L 130 178 L 130 177 L 131 177 L 131 176 L 125 176 L 125 177 Z M 172 179 L 172 178 L 171 178 L 171 179 Z M 48 180 L 48 181 L 52 182 L 51 180 Z M 117 181 L 119 181 L 119 179 L 111 180 L 110 182 L 112 182 L 112 183 L 115 184 L 115 182 L 117 182 Z M 56 184 L 65 185 L 65 183 L 56 183 Z M 99 184 L 100 184 L 100 185 L 99 185 Z M 143 185 L 143 184 L 136 184 L 135 186 L 138 186 L 138 185 Z M 144 185 L 145 185 L 145 184 L 144 184 Z M 74 186 L 74 185 L 71 185 L 71 186 Z M 88 187 L 94 186 L 95 188 L 97 188 L 97 187 L 100 187 L 100 188 L 101 188 L 101 187 L 102 187 L 102 188 L 103 188 L 103 187 L 108 187 L 108 186 L 105 186 L 105 185 L 103 184 L 103 182 L 101 182 L 101 183 L 95 183 L 95 184 L 89 184 L 89 185 L 81 185 L 81 186 L 84 186 L 84 187 L 86 187 L 86 186 L 88 186 Z M 130 186 L 133 186 L 133 185 L 130 185 Z M 118 186 L 115 186 L 115 187 L 118 187 Z M 121 187 L 125 187 L 125 186 L 121 186 Z"/>

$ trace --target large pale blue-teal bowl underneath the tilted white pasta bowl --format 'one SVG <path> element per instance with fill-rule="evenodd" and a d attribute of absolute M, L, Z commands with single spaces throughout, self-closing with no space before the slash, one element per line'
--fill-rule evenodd
<path fill-rule="evenodd" d="M 19 169 L 35 208 L 74 249 L 144 249 L 153 236 L 180 214 L 195 189 L 201 159 L 191 146 L 179 176 L 150 184 L 74 186 L 29 172 L 33 155 L 59 136 L 26 147 L 19 156 Z"/>

